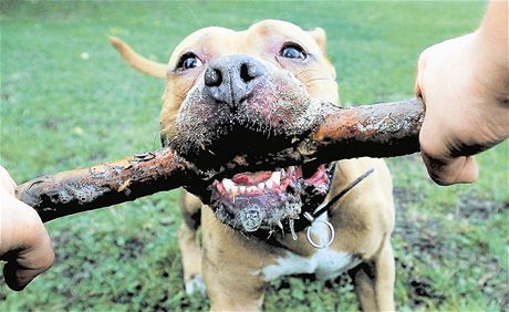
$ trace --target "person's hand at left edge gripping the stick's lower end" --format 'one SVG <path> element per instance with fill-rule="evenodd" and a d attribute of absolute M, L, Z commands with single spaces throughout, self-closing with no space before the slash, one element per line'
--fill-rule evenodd
<path fill-rule="evenodd" d="M 15 183 L 0 166 L 0 260 L 12 290 L 22 290 L 54 261 L 50 236 L 39 215 L 14 196 Z"/>

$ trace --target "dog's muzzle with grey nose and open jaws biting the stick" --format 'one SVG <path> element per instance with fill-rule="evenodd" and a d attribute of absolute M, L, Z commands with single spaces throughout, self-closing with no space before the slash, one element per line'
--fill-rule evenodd
<path fill-rule="evenodd" d="M 331 110 L 308 87 L 289 70 L 235 54 L 209 62 L 181 102 L 164 143 L 202 170 L 228 162 L 252 168 L 186 187 L 224 223 L 245 233 L 294 232 L 304 225 L 295 220 L 325 199 L 331 165 L 311 160 L 270 170 L 262 165 L 295 136 L 312 132 Z"/>

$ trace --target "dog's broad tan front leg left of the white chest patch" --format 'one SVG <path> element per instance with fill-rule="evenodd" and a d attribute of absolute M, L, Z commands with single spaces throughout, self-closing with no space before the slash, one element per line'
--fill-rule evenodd
<path fill-rule="evenodd" d="M 202 214 L 202 273 L 211 311 L 260 311 L 267 282 L 260 274 L 266 253 L 222 225 L 209 207 Z"/>

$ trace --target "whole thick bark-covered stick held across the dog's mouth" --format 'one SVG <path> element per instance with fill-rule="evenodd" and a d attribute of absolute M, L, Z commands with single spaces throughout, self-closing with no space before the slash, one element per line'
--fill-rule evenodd
<path fill-rule="evenodd" d="M 237 156 L 217 169 L 202 171 L 168 148 L 44 176 L 18 186 L 17 197 L 42 220 L 106 207 L 180 186 L 205 189 L 215 178 L 238 171 L 362 156 L 392 157 L 419 152 L 424 104 L 416 98 L 334 110 L 303 137 L 281 150 L 250 158 Z M 205 201 L 207 198 L 202 198 Z"/>

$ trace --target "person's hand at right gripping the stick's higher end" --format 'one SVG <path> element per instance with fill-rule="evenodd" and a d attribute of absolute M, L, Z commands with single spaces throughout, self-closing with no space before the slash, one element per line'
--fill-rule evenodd
<path fill-rule="evenodd" d="M 507 30 L 506 43 L 491 39 L 479 30 L 435 44 L 419 56 L 416 95 L 426 105 L 420 150 L 439 185 L 476 180 L 471 155 L 509 136 Z"/>

